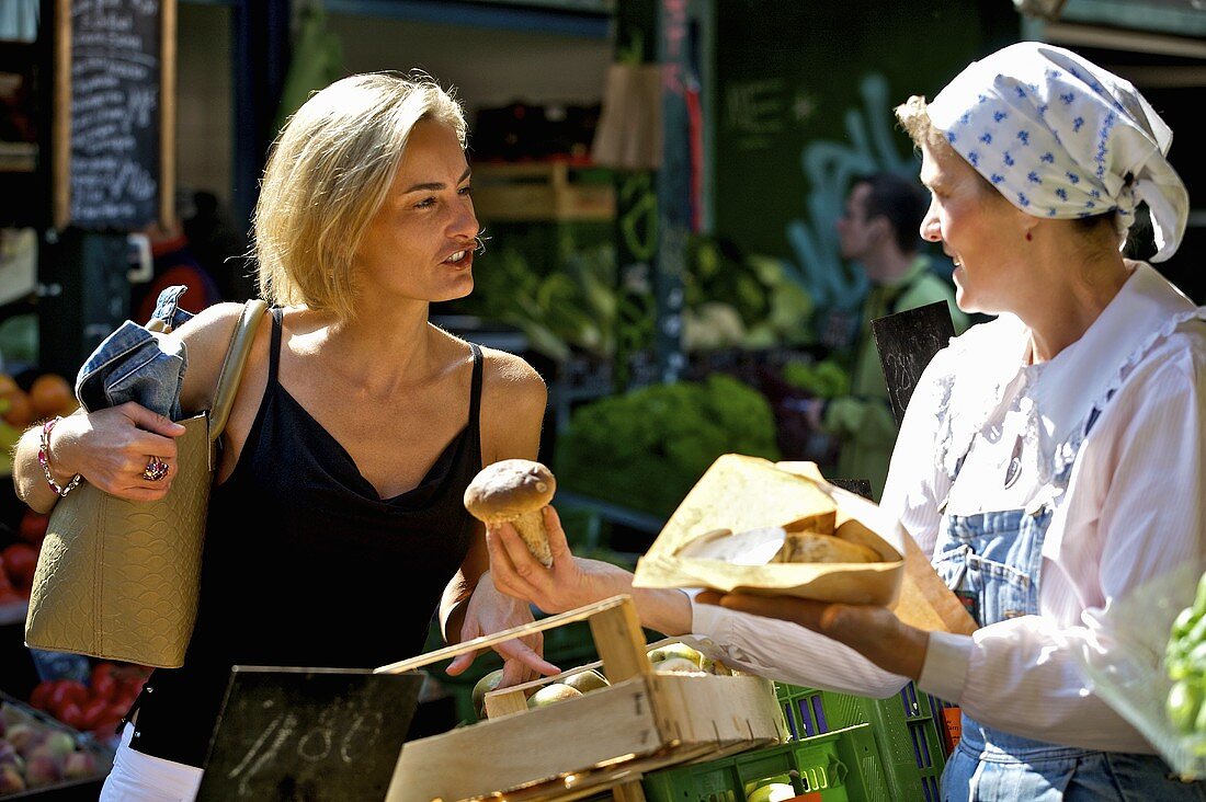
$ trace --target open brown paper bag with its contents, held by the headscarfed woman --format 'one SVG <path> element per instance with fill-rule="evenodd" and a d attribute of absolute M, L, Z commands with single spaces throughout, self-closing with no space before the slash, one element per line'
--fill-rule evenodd
<path fill-rule="evenodd" d="M 807 462 L 719 457 L 637 562 L 633 585 L 882 604 L 926 631 L 974 630 L 900 522 Z"/>

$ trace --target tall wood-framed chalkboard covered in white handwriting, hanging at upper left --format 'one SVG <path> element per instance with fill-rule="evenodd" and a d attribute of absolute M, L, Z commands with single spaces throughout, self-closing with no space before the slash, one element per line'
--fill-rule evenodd
<path fill-rule="evenodd" d="M 57 0 L 54 221 L 171 222 L 175 0 Z"/>

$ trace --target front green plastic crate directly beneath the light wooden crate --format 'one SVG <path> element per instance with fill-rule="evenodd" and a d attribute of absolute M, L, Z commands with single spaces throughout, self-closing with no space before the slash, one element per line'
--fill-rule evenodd
<path fill-rule="evenodd" d="M 800 773 L 810 801 L 889 798 L 870 724 L 650 772 L 642 788 L 649 802 L 745 802 L 759 785 L 789 783 L 791 771 Z"/>

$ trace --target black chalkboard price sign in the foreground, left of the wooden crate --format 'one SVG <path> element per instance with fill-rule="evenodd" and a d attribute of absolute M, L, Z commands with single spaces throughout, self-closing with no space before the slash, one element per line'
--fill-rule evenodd
<path fill-rule="evenodd" d="M 199 802 L 384 800 L 423 675 L 230 672 Z"/>

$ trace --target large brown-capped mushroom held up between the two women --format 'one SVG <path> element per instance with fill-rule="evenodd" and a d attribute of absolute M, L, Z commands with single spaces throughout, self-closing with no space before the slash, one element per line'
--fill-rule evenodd
<path fill-rule="evenodd" d="M 552 564 L 541 510 L 552 500 L 557 480 L 531 459 L 503 459 L 482 468 L 464 490 L 464 508 L 486 525 L 510 523 L 544 566 Z"/>

